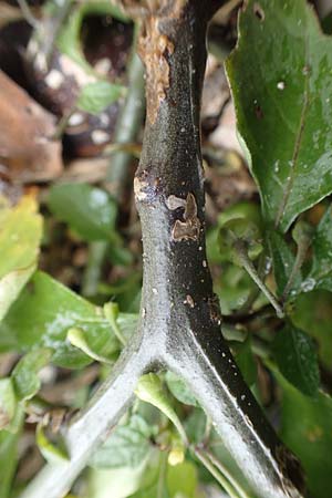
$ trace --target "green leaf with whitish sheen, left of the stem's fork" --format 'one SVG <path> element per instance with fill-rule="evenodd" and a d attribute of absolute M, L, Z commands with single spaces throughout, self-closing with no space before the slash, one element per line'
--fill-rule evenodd
<path fill-rule="evenodd" d="M 120 350 L 102 310 L 38 271 L 0 324 L 0 349 L 50 347 L 56 365 L 82 367 L 92 360 L 66 340 L 73 328 L 84 331 L 89 347 L 101 356 L 112 360 Z"/>

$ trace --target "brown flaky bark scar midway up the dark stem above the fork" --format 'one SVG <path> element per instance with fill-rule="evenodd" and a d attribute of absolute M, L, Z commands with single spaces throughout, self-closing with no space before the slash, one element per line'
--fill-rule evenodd
<path fill-rule="evenodd" d="M 169 198 L 173 198 L 172 203 L 173 205 L 175 205 L 174 203 L 175 196 L 169 196 Z M 183 207 L 181 203 L 178 203 L 177 207 Z M 172 238 L 176 242 L 179 242 L 181 240 L 198 240 L 199 231 L 200 231 L 200 221 L 199 218 L 197 217 L 197 205 L 195 196 L 191 193 L 189 193 L 185 201 L 184 221 L 179 219 L 175 221 L 172 230 Z"/>

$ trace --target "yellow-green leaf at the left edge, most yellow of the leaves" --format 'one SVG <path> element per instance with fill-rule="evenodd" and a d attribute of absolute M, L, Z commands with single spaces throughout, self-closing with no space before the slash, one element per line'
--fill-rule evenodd
<path fill-rule="evenodd" d="M 0 206 L 0 320 L 33 273 L 42 237 L 42 218 L 32 196 L 14 208 Z"/>

